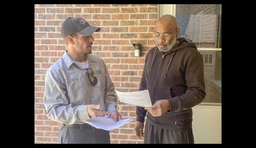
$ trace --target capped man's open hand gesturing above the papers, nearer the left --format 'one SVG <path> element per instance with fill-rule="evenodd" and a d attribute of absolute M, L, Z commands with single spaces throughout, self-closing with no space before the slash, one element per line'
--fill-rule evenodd
<path fill-rule="evenodd" d="M 108 111 L 103 111 L 101 105 L 87 105 L 87 113 L 90 117 L 104 116 L 108 114 Z"/>

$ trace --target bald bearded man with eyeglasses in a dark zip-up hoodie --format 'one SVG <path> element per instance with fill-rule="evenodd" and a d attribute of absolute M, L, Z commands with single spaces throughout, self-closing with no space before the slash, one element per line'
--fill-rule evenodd
<path fill-rule="evenodd" d="M 152 106 L 137 106 L 136 135 L 144 143 L 194 143 L 192 107 L 205 96 L 204 63 L 195 43 L 179 34 L 177 20 L 166 14 L 155 26 L 156 47 L 145 57 L 139 90 L 148 89 Z M 145 134 L 143 133 L 144 120 Z"/>

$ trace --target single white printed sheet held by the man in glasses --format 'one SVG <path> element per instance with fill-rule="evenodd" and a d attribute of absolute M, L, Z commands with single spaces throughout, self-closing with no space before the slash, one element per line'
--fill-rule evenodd
<path fill-rule="evenodd" d="M 134 92 L 116 91 L 116 94 L 118 96 L 118 99 L 122 103 L 141 106 L 141 107 L 152 106 L 148 90 L 134 91 Z"/>

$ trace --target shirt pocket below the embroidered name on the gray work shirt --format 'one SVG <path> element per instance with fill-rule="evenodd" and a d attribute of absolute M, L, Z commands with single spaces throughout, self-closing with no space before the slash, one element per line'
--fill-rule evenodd
<path fill-rule="evenodd" d="M 88 82 L 75 83 L 67 85 L 67 92 L 70 97 L 70 103 L 73 105 L 81 105 L 83 103 L 90 104 L 90 91 Z"/>

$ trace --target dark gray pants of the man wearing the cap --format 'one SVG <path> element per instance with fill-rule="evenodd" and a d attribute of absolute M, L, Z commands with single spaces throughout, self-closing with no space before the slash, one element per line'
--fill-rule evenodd
<path fill-rule="evenodd" d="M 110 143 L 109 131 L 97 128 L 74 129 L 66 125 L 58 131 L 58 143 L 86 144 Z"/>

